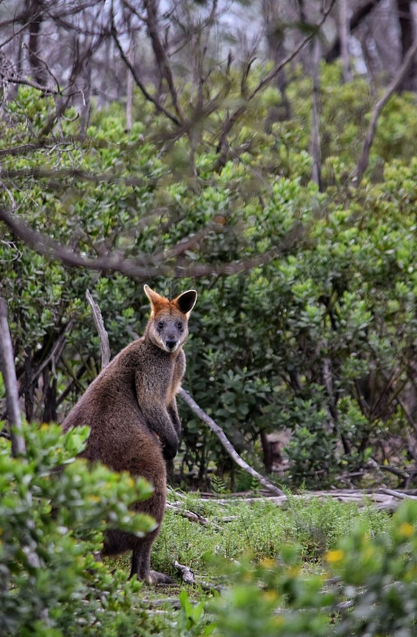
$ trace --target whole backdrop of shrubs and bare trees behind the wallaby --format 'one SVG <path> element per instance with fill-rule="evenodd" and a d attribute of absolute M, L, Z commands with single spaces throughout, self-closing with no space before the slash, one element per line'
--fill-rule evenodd
<path fill-rule="evenodd" d="M 416 64 L 358 178 L 412 5 L 1 5 L 0 293 L 29 422 L 99 371 L 87 288 L 115 354 L 143 283 L 195 287 L 184 384 L 251 464 L 414 485 Z M 181 414 L 176 479 L 250 486 Z"/>

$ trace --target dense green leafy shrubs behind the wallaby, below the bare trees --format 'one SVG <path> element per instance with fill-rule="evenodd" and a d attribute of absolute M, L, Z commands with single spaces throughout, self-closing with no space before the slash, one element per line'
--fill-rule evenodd
<path fill-rule="evenodd" d="M 81 255 L 114 249 L 146 266 L 146 255 L 167 254 L 166 273 L 154 280 L 101 276 L 51 262 L 1 227 L 0 292 L 28 420 L 62 418 L 98 373 L 88 287 L 113 354 L 143 331 L 144 282 L 166 294 L 195 287 L 185 386 L 239 452 L 260 464 L 260 434 L 288 427 L 283 479 L 292 485 L 329 484 L 370 456 L 407 464 L 404 406 L 412 419 L 416 382 L 414 98 L 387 104 L 368 174 L 354 188 L 373 97 L 364 80 L 342 85 L 339 66 L 323 66 L 319 192 L 309 180 L 311 82 L 295 70 L 287 92 L 292 118 L 271 117 L 281 98 L 269 88 L 236 127 L 234 144 L 244 150 L 223 167 L 210 145 L 216 113 L 208 117 L 194 153 L 197 176 L 188 172 L 188 141 L 163 145 L 163 117 L 139 95 L 131 132 L 113 104 L 93 112 L 80 138 L 69 110 L 54 144 L 18 154 L 8 148 L 43 140 L 52 99 L 21 88 L 9 101 L 4 204 L 11 194 L 20 218 Z M 183 238 L 191 240 L 188 262 L 261 264 L 174 281 L 170 268 L 181 272 L 181 255 L 168 253 Z M 276 256 L 262 264 L 269 250 Z M 213 463 L 220 473 L 230 468 L 219 443 L 183 405 L 181 413 L 183 473 L 196 467 L 204 480 Z M 395 450 L 394 435 L 402 436 Z"/>

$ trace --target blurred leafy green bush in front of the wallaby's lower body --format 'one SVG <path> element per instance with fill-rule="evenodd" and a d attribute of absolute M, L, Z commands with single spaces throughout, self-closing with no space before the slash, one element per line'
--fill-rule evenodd
<path fill-rule="evenodd" d="M 132 480 L 75 456 L 88 428 L 26 427 L 26 461 L 0 438 L 0 633 L 129 636 L 138 629 L 141 583 L 110 574 L 93 553 L 107 527 L 143 534 L 155 521 L 129 505 L 150 496 Z"/>

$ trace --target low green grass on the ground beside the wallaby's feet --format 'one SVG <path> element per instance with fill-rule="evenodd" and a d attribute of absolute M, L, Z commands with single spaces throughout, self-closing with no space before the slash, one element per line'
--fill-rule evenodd
<path fill-rule="evenodd" d="M 169 499 L 174 501 L 173 494 Z M 196 579 L 213 583 L 218 581 L 225 563 L 239 561 L 248 554 L 255 562 L 273 559 L 284 544 L 290 543 L 297 547 L 298 566 L 304 572 L 322 573 L 323 556 L 335 547 L 339 538 L 359 523 L 365 524 L 372 535 L 383 533 L 390 519 L 388 513 L 371 504 L 359 508 L 357 503 L 339 502 L 331 497 L 309 501 L 289 497 L 286 508 L 281 508 L 268 498 L 251 504 L 236 499 L 221 503 L 216 498 L 202 501 L 199 494 L 188 493 L 181 499 L 181 506 L 199 513 L 209 520 L 209 524 L 201 526 L 181 517 L 176 510 L 167 510 L 159 538 L 153 546 L 152 568 L 173 576 L 178 584 L 143 587 L 143 635 L 203 634 L 202 624 L 193 624 L 185 608 L 178 610 L 178 598 L 181 590 L 186 589 L 190 601 L 196 605 L 200 601 L 205 603 L 209 595 L 199 587 L 183 585 L 173 568 L 175 560 L 190 566 Z M 130 559 L 130 554 L 125 554 L 107 561 L 111 569 L 127 571 Z M 153 606 L 155 600 L 156 607 Z M 187 628 L 190 621 L 195 632 Z"/>

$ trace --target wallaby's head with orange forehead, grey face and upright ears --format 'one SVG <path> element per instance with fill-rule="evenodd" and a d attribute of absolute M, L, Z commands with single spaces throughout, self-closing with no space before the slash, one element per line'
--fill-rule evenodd
<path fill-rule="evenodd" d="M 175 352 L 187 340 L 188 317 L 197 301 L 197 292 L 187 290 L 169 301 L 151 290 L 149 285 L 144 289 L 152 309 L 146 336 L 162 350 Z"/>

